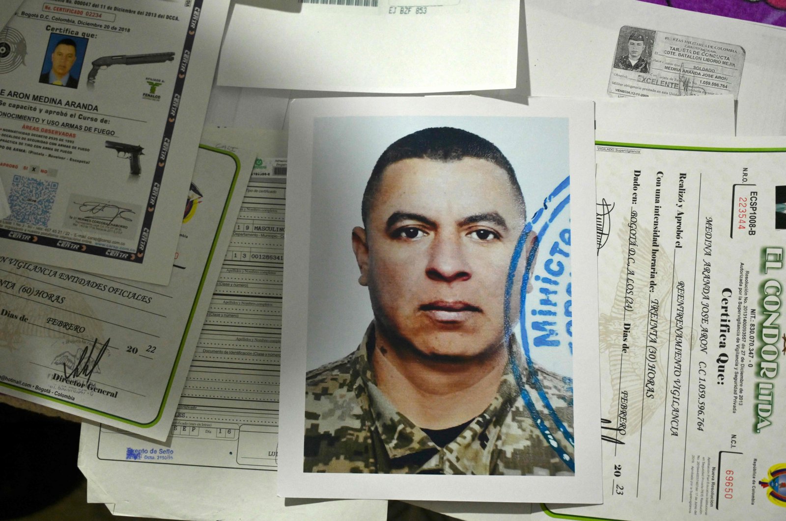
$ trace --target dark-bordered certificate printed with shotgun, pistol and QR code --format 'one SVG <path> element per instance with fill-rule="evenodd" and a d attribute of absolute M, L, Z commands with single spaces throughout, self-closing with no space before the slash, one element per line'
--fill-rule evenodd
<path fill-rule="evenodd" d="M 228 5 L 20 5 L 0 31 L 4 253 L 167 284 Z"/>

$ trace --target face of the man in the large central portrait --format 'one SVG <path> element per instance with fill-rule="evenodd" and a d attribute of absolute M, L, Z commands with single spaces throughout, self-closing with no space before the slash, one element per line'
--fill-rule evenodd
<path fill-rule="evenodd" d="M 387 166 L 353 247 L 391 347 L 461 359 L 502 345 L 505 279 L 523 228 L 514 193 L 505 170 L 483 159 Z"/>

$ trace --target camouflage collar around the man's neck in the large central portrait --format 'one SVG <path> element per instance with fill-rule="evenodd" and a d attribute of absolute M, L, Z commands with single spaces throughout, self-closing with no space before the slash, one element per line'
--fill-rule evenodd
<path fill-rule="evenodd" d="M 518 395 L 516 382 L 509 364 L 505 366 L 497 395 L 454 441 L 442 449 L 428 435 L 399 413 L 376 386 L 376 377 L 369 363 L 369 353 L 375 342 L 372 322 L 358 350 L 354 353 L 352 377 L 358 403 L 380 436 L 380 442 L 390 458 L 387 472 L 439 472 L 446 474 L 489 474 L 496 440 L 501 435 L 505 418 Z M 518 342 L 511 340 L 512 352 L 520 358 Z M 521 366 L 521 365 L 520 365 Z M 382 465 L 382 462 L 379 462 Z M 405 469 L 406 468 L 406 469 Z"/>

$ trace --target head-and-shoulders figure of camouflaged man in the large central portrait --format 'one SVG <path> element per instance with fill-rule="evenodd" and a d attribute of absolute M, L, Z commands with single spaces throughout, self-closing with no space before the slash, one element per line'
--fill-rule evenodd
<path fill-rule="evenodd" d="M 527 291 L 538 237 L 508 158 L 464 129 L 417 130 L 380 155 L 359 206 L 373 320 L 307 374 L 304 472 L 573 475 L 572 379 L 509 333 L 506 285 Z"/>

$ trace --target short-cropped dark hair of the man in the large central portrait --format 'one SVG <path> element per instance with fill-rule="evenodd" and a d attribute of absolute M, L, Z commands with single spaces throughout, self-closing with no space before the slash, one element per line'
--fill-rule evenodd
<path fill-rule="evenodd" d="M 413 132 L 395 140 L 382 152 L 371 171 L 369 181 L 365 184 L 361 205 L 363 225 L 368 226 L 371 205 L 382 183 L 382 173 L 388 166 L 404 159 L 432 159 L 452 162 L 461 161 L 463 158 L 483 159 L 505 170 L 513 188 L 513 195 L 521 205 L 522 214 L 525 215 L 524 196 L 521 193 L 519 181 L 516 179 L 516 172 L 500 149 L 477 134 L 454 129 L 450 126 L 441 126 Z"/>

